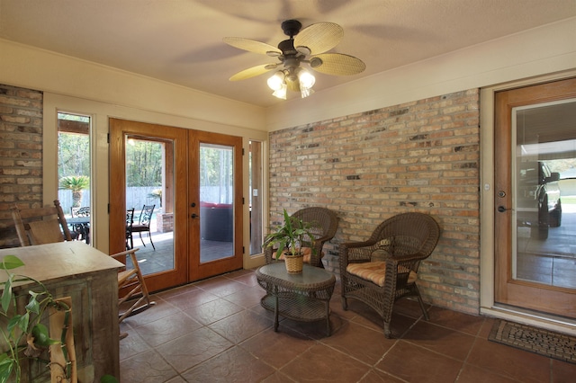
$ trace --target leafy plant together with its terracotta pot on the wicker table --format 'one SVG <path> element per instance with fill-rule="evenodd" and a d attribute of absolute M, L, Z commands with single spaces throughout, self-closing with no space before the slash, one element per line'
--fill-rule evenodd
<path fill-rule="evenodd" d="M 314 241 L 311 227 L 311 223 L 289 216 L 284 209 L 284 224 L 273 228 L 273 231 L 266 236 L 263 246 L 277 246 L 275 257 L 280 259 L 284 256 L 287 272 L 302 272 L 303 245 L 305 242 Z M 307 249 L 314 251 L 312 247 Z"/>

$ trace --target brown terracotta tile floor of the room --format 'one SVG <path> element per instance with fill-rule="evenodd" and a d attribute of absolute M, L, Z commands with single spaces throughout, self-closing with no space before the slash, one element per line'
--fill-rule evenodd
<path fill-rule="evenodd" d="M 199 287 L 200 286 L 200 287 Z M 154 295 L 155 307 L 121 324 L 122 383 L 293 382 L 573 382 L 576 364 L 488 341 L 495 319 L 401 299 L 392 339 L 371 307 L 348 299 L 339 284 L 326 322 L 302 323 L 260 306 L 254 270 Z M 219 298 L 224 296 L 224 298 Z"/>

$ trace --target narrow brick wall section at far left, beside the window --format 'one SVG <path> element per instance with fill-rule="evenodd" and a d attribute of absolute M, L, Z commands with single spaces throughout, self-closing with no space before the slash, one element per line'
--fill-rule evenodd
<path fill-rule="evenodd" d="M 0 85 L 0 248 L 20 245 L 10 208 L 42 206 L 39 91 Z"/>

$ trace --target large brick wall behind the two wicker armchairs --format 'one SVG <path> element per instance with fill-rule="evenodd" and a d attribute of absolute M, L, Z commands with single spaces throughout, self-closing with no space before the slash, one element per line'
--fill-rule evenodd
<path fill-rule="evenodd" d="M 324 263 L 338 275 L 338 244 L 367 239 L 394 214 L 431 214 L 441 239 L 419 269 L 423 298 L 479 312 L 478 89 L 283 129 L 270 134 L 272 224 L 324 206 L 340 218 Z"/>

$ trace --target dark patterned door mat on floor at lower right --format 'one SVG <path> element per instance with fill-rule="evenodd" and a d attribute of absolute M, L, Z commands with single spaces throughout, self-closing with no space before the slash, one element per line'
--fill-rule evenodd
<path fill-rule="evenodd" d="M 535 352 L 548 358 L 576 364 L 575 336 L 500 319 L 492 326 L 488 339 L 519 350 Z"/>

